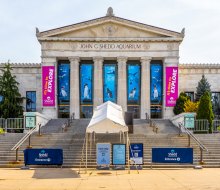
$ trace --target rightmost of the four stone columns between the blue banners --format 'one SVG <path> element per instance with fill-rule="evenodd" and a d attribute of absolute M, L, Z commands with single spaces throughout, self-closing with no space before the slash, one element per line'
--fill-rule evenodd
<path fill-rule="evenodd" d="M 150 116 L 150 57 L 141 57 L 141 119 Z"/>

